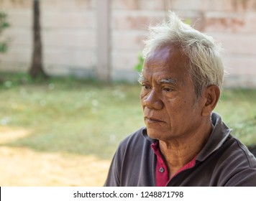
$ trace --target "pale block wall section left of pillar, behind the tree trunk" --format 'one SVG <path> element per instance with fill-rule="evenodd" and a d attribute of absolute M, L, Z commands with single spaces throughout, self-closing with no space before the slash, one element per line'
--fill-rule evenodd
<path fill-rule="evenodd" d="M 41 0 L 44 66 L 50 75 L 91 76 L 96 65 L 95 1 Z M 32 57 L 32 0 L 0 0 L 11 24 L 1 70 L 25 71 Z"/>

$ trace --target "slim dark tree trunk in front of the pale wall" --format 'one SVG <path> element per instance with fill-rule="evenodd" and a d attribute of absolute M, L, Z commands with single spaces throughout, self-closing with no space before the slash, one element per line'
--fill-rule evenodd
<path fill-rule="evenodd" d="M 40 35 L 40 0 L 33 4 L 33 55 L 29 74 L 33 79 L 46 79 L 47 75 L 42 67 L 42 42 Z"/>

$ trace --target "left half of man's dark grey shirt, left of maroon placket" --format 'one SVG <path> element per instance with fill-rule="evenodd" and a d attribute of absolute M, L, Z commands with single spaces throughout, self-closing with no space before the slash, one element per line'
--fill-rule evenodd
<path fill-rule="evenodd" d="M 105 186 L 152 186 L 154 165 L 151 140 L 146 128 L 140 128 L 119 144 Z"/>

